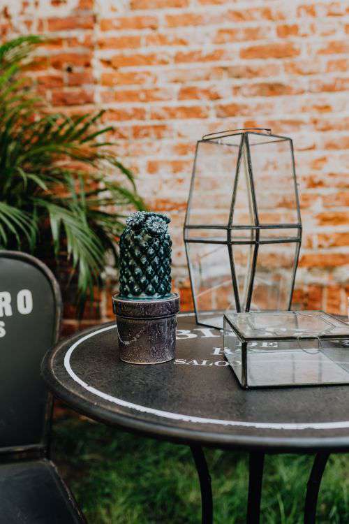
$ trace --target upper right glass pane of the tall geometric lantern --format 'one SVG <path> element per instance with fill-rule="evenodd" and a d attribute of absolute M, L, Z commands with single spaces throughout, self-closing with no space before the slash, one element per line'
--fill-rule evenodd
<path fill-rule="evenodd" d="M 297 224 L 291 140 L 248 133 L 260 224 Z"/>

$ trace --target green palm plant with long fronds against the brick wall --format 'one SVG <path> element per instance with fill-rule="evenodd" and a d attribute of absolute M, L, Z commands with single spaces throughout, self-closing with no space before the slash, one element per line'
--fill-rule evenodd
<path fill-rule="evenodd" d="M 102 112 L 52 114 L 28 87 L 22 70 L 40 41 L 0 46 L 0 249 L 31 252 L 56 274 L 68 264 L 83 305 L 101 283 L 107 254 L 118 264 L 114 242 L 126 208 L 144 205 L 103 138 L 112 128 L 101 128 Z"/>

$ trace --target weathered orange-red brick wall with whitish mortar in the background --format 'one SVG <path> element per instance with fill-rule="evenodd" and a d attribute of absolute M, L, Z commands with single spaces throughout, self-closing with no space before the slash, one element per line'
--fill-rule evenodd
<path fill-rule="evenodd" d="M 47 100 L 59 110 L 107 108 L 105 124 L 116 127 L 117 152 L 136 173 L 140 193 L 149 207 L 170 214 L 184 307 L 191 295 L 181 227 L 195 141 L 210 131 L 269 126 L 295 143 L 304 223 L 295 302 L 345 312 L 348 2 L 20 3 L 0 0 L 0 29 L 3 38 L 54 37 L 34 71 Z M 96 311 L 89 315 L 94 322 Z M 107 291 L 99 316 L 110 315 Z"/>

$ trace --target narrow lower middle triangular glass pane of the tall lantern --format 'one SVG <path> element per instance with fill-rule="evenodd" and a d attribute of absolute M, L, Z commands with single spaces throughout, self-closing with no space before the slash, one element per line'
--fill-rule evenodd
<path fill-rule="evenodd" d="M 251 268 L 254 245 L 237 244 L 232 246 L 237 287 L 239 289 L 240 310 L 246 311 L 248 288 L 251 281 Z"/>

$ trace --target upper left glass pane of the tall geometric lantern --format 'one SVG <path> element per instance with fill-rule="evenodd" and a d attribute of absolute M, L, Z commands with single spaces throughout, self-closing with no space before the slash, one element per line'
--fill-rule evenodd
<path fill-rule="evenodd" d="M 228 225 L 240 137 L 229 137 L 232 145 L 198 143 L 187 224 Z"/>

